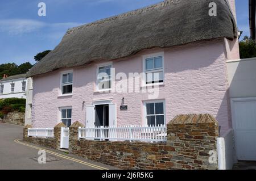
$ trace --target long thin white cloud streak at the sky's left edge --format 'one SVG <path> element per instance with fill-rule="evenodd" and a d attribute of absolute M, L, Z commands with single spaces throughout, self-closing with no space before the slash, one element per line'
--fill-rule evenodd
<path fill-rule="evenodd" d="M 44 23 L 32 19 L 0 19 L 0 32 L 7 32 L 10 35 L 22 35 L 24 33 L 31 33 L 42 30 L 43 28 L 50 28 L 53 31 L 63 31 L 68 28 L 80 26 L 81 23 L 67 22 L 67 23 Z"/>

